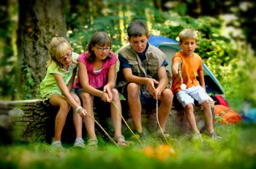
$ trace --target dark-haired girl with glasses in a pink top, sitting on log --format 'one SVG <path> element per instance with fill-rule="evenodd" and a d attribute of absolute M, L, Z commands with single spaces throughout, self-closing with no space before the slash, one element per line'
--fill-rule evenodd
<path fill-rule="evenodd" d="M 121 134 L 121 102 L 116 83 L 116 55 L 111 50 L 111 39 L 103 31 L 94 33 L 87 46 L 88 51 L 78 58 L 78 79 L 74 88 L 83 101 L 83 108 L 90 117 L 94 118 L 94 106 L 98 114 L 104 116 L 104 110 L 111 112 L 115 140 L 118 146 L 128 146 Z M 117 108 L 113 103 L 116 104 Z M 89 135 L 88 146 L 97 148 L 97 136 L 94 130 L 94 121 L 84 117 L 86 130 Z"/>

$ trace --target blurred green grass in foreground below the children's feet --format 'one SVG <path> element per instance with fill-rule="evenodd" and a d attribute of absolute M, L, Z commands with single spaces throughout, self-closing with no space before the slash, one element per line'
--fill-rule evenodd
<path fill-rule="evenodd" d="M 71 145 L 56 151 L 42 143 L 0 146 L 0 168 L 256 168 L 256 125 L 217 124 L 216 131 L 222 141 L 176 135 L 168 141 L 175 153 L 153 136 L 125 149 L 100 144 L 98 151 Z"/>

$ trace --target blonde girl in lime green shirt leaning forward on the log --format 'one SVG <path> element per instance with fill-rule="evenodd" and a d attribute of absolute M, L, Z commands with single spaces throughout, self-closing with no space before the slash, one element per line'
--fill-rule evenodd
<path fill-rule="evenodd" d="M 55 119 L 55 133 L 52 142 L 53 148 L 62 148 L 61 133 L 69 113 L 73 108 L 73 120 L 76 130 L 74 146 L 84 147 L 82 139 L 82 120 L 79 117 L 86 116 L 86 110 L 80 106 L 80 100 L 71 92 L 77 72 L 78 54 L 72 52 L 69 42 L 63 37 L 54 37 L 49 46 L 50 60 L 45 79 L 40 84 L 42 98 L 49 99 L 50 105 L 59 107 Z"/>

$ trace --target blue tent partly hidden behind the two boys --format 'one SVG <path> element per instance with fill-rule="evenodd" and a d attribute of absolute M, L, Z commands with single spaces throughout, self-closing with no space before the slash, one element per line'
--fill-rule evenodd
<path fill-rule="evenodd" d="M 181 48 L 178 46 L 178 42 L 174 39 L 167 38 L 165 36 L 149 36 L 149 44 L 154 45 L 155 47 L 158 47 L 162 52 L 165 53 L 167 56 L 166 60 L 169 63 L 167 66 L 167 70 L 170 70 L 170 61 L 173 55 L 178 52 L 178 50 L 181 50 Z M 210 69 L 203 63 L 203 69 L 204 69 L 204 78 L 206 83 L 206 91 L 207 93 L 213 93 L 213 94 L 224 94 L 224 90 L 222 85 L 219 83 L 219 81 L 216 79 L 214 74 L 210 71 Z"/>

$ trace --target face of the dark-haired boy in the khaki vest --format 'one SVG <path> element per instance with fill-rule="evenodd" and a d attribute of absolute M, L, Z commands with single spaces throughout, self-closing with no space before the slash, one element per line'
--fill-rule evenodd
<path fill-rule="evenodd" d="M 146 49 L 146 45 L 148 42 L 149 35 L 143 36 L 132 36 L 128 38 L 129 44 L 131 44 L 132 49 L 138 53 L 142 53 Z"/>

